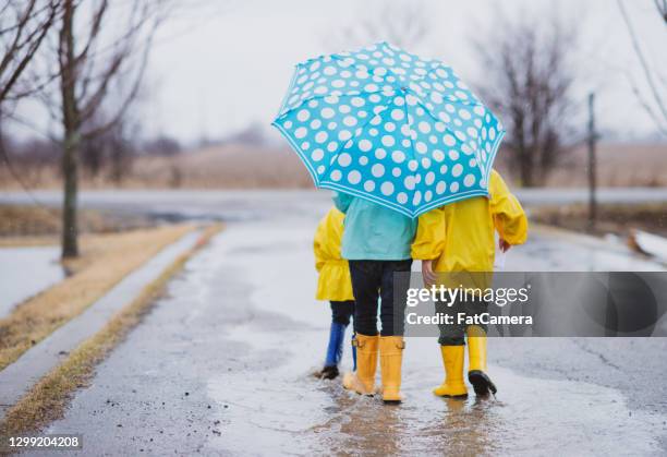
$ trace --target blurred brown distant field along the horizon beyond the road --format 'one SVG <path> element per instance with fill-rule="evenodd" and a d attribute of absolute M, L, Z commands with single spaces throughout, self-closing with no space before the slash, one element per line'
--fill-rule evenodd
<path fill-rule="evenodd" d="M 667 187 L 667 144 L 633 145 L 601 144 L 598 146 L 598 183 L 602 187 Z M 502 165 L 498 168 L 516 181 Z M 56 167 L 19 169 L 31 189 L 60 188 Z M 548 178 L 549 187 L 584 187 L 586 184 L 586 152 L 580 148 L 568 155 Z M 183 153 L 174 157 L 138 157 L 120 184 L 104 177 L 84 175 L 83 188 L 129 189 L 307 189 L 311 177 L 296 155 L 288 147 L 268 148 L 248 145 L 214 146 Z M 0 164 L 0 189 L 20 189 L 20 184 Z"/>

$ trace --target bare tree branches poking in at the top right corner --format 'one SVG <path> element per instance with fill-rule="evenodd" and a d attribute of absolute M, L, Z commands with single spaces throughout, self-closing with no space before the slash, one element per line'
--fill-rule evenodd
<path fill-rule="evenodd" d="M 667 25 L 667 0 L 654 1 L 658 13 Z M 667 136 L 667 105 L 664 98 L 667 92 L 667 84 L 665 83 L 665 77 L 648 62 L 624 2 L 622 0 L 617 0 L 616 3 L 623 19 L 623 23 L 626 24 L 626 29 L 630 35 L 630 41 L 632 43 L 632 48 L 640 63 L 646 87 L 645 89 L 640 88 L 638 82 L 628 73 L 632 92 L 644 111 L 651 117 L 658 131 Z"/>

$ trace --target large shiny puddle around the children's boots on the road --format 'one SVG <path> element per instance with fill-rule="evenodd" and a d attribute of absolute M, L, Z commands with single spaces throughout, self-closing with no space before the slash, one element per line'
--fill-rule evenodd
<path fill-rule="evenodd" d="M 253 238 L 253 230 L 244 227 L 244 239 Z M 228 234 L 234 236 L 231 230 Z M 213 448 L 231 454 L 341 455 L 662 452 L 658 440 L 666 418 L 632 411 L 619 390 L 595 384 L 532 378 L 490 366 L 499 387 L 497 398 L 437 398 L 430 389 L 444 373 L 432 338 L 407 341 L 407 398 L 400 406 L 387 407 L 379 398 L 348 393 L 340 380 L 313 378 L 310 373 L 320 368 L 324 357 L 329 311 L 327 303 L 313 300 L 314 274 L 300 267 L 295 276 L 280 267 L 312 262 L 306 248 L 296 246 L 289 253 L 280 248 L 281 240 L 293 242 L 298 236 L 302 238 L 301 232 L 276 230 L 272 237 L 280 255 L 272 256 L 270 248 L 262 253 L 248 250 L 235 262 L 240 277 L 248 282 L 248 301 L 256 317 L 228 337 L 253 349 L 244 360 L 246 370 L 207 382 L 210 398 L 228 405 L 217 418 L 221 435 L 209 441 Z M 310 242 L 305 231 L 303 239 Z M 257 265 L 260 270 L 250 274 Z M 516 339 L 504 344 L 516 345 L 516 352 L 521 353 L 527 342 Z M 343 360 L 349 369 L 349 347 Z"/>

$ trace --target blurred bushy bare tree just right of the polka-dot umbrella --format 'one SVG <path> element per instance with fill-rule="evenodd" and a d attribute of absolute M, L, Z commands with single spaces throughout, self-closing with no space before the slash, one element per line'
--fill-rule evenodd
<path fill-rule="evenodd" d="M 498 15 L 495 32 L 475 40 L 485 74 L 478 88 L 507 127 L 509 165 L 522 185 L 538 185 L 572 146 L 577 105 L 568 56 L 575 35 L 559 20 Z"/>

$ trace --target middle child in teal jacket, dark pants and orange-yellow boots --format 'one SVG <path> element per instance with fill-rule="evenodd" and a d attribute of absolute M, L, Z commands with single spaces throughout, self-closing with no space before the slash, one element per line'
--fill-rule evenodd
<path fill-rule="evenodd" d="M 383 400 L 401 401 L 401 364 L 403 360 L 403 313 L 409 278 L 395 281 L 395 273 L 409 273 L 412 265 L 410 245 L 416 220 L 392 209 L 349 194 L 337 193 L 336 207 L 345 213 L 342 257 L 350 264 L 354 291 L 354 346 L 356 372 L 345 375 L 343 387 L 357 394 L 375 394 L 377 356 L 380 357 Z M 404 289 L 404 290 L 403 290 Z M 377 309 L 380 301 L 383 328 L 377 332 Z"/>

